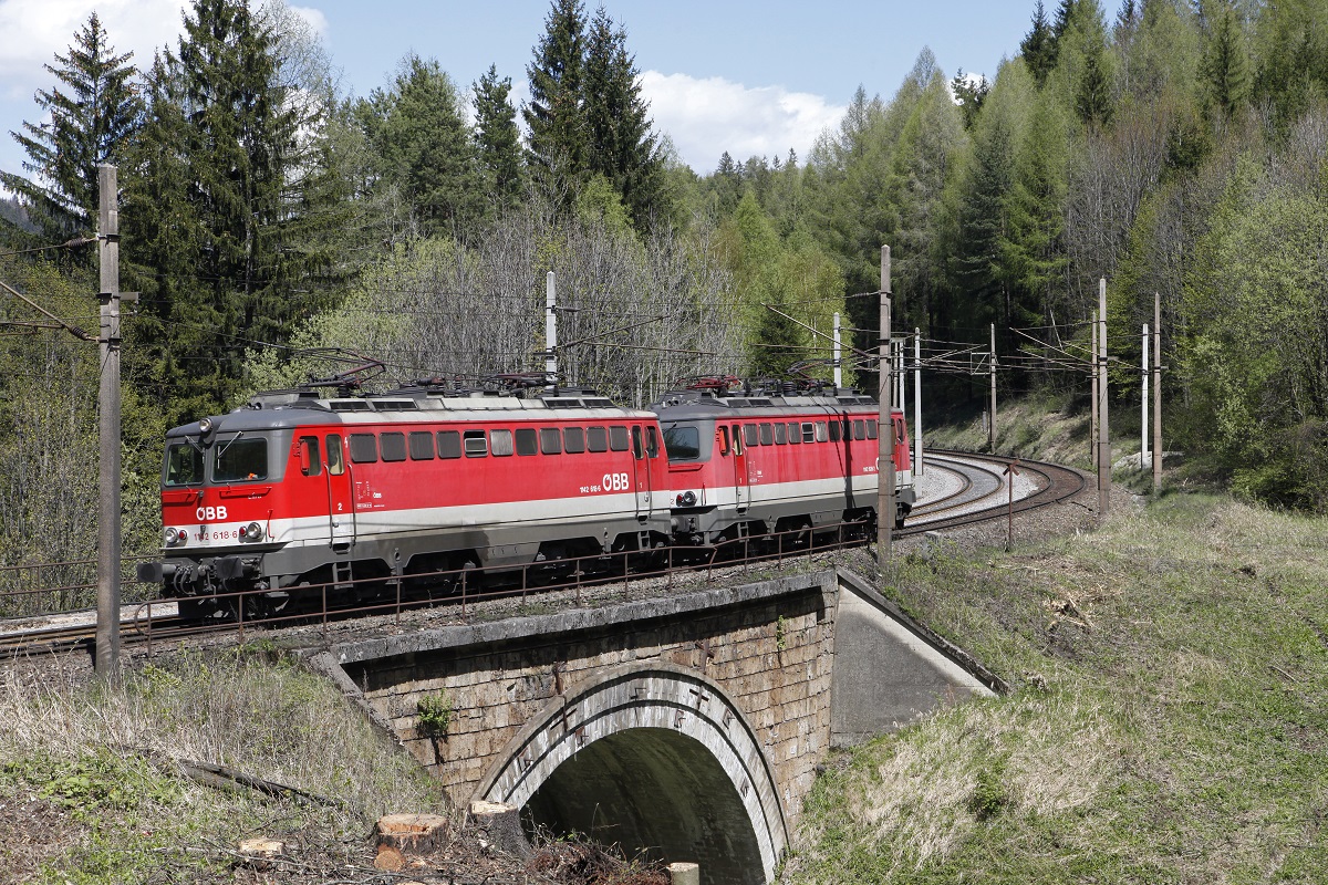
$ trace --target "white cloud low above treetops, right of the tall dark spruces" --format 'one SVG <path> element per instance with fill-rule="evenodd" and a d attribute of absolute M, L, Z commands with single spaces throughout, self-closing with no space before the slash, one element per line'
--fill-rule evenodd
<path fill-rule="evenodd" d="M 738 163 L 750 157 L 788 155 L 806 162 L 811 145 L 843 117 L 845 107 L 821 96 L 782 86 L 749 88 L 721 77 L 641 74 L 656 131 L 668 133 L 683 162 L 697 174 L 714 171 L 728 151 Z"/>

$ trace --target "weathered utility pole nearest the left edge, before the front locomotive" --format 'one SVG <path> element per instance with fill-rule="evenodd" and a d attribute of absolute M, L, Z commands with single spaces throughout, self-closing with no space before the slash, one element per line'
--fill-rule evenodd
<path fill-rule="evenodd" d="M 116 167 L 97 166 L 101 265 L 101 508 L 97 515 L 97 674 L 120 678 L 120 208 Z"/>

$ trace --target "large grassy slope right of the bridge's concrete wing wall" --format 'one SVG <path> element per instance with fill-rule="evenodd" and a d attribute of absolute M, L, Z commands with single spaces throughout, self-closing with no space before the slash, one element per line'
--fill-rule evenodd
<path fill-rule="evenodd" d="M 838 759 L 782 881 L 1328 881 L 1325 528 L 1171 494 L 906 561 L 887 593 L 1017 689 Z"/>

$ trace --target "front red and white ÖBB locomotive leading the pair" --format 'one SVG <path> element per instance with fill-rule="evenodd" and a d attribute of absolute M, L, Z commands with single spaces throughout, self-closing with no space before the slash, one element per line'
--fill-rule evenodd
<path fill-rule="evenodd" d="M 652 549 L 669 535 L 660 455 L 652 413 L 587 390 L 260 394 L 167 434 L 163 559 L 138 579 L 193 617 L 256 590 L 248 617 L 300 586 Z"/>

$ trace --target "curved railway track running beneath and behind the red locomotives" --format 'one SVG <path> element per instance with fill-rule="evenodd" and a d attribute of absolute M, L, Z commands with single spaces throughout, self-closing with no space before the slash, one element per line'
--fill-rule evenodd
<path fill-rule="evenodd" d="M 1013 504 L 1011 504 L 1004 472 L 1015 459 L 997 455 L 975 455 L 969 452 L 943 450 L 930 451 L 928 458 L 935 459 L 928 462 L 930 470 L 946 470 L 959 478 L 957 488 L 947 491 L 943 495 L 918 506 L 908 516 L 904 528 L 895 531 L 895 537 L 910 537 L 927 532 L 972 525 L 984 520 L 1003 519 L 1011 512 L 1021 513 L 1041 507 L 1050 507 L 1074 496 L 1086 486 L 1084 474 L 1077 470 L 1045 462 L 1019 460 L 1017 470 L 1025 476 L 1035 476 L 1037 490 L 1021 499 L 1016 499 Z M 985 464 L 989 464 L 989 467 Z M 988 499 L 991 500 L 989 504 L 985 503 Z M 874 537 L 874 533 L 861 532 L 862 525 L 857 525 L 854 528 L 859 529 L 859 535 L 866 535 L 869 539 Z M 734 545 L 732 556 L 716 557 L 712 555 L 703 563 L 697 563 L 693 559 L 692 561 L 680 564 L 675 563 L 673 557 L 669 556 L 671 568 L 665 571 L 651 571 L 648 573 L 628 572 L 624 575 L 623 572 L 618 572 L 603 579 L 586 580 L 584 582 L 579 576 L 574 576 L 571 581 L 560 581 L 548 585 L 529 582 L 527 576 L 522 576 L 519 586 L 503 586 L 485 593 L 474 593 L 471 590 L 469 601 L 474 602 L 481 598 L 515 596 L 518 593 L 525 594 L 527 592 L 537 590 L 568 589 L 568 586 L 572 585 L 575 585 L 576 598 L 579 601 L 579 592 L 583 584 L 611 584 L 647 577 L 669 577 L 680 572 L 741 565 L 745 561 L 754 560 L 782 560 L 789 556 L 823 552 L 835 547 L 861 545 L 867 543 L 862 537 L 847 540 L 841 537 L 834 541 L 813 543 L 807 547 L 795 543 L 784 545 L 782 541 L 776 545 L 769 539 L 766 539 L 768 543 L 761 544 L 761 540 L 762 539 L 756 537 L 745 539 L 741 543 L 741 549 Z M 437 605 L 440 602 L 449 605 L 459 604 L 462 616 L 465 616 L 467 596 L 463 590 L 459 596 L 454 594 L 445 598 L 402 600 L 398 597 L 396 600 L 386 600 L 381 605 L 361 606 L 357 609 L 324 608 L 319 612 L 304 612 L 295 616 L 264 620 L 262 626 L 271 628 L 274 625 L 290 626 L 296 624 L 309 624 L 316 622 L 319 618 L 327 624 L 329 620 L 341 620 L 355 617 L 357 614 L 371 613 L 381 616 L 396 612 L 400 617 L 402 610 Z M 153 612 L 154 608 L 158 609 L 159 613 Z M 244 620 L 208 625 L 191 624 L 181 620 L 173 609 L 174 605 L 169 601 L 151 604 L 145 602 L 134 608 L 131 612 L 129 606 L 126 606 L 125 610 L 127 612 L 127 616 L 121 621 L 122 645 L 146 645 L 150 647 L 153 642 L 189 640 L 208 633 L 216 633 L 219 630 L 239 632 L 243 637 L 244 630 L 252 629 L 254 626 L 251 621 L 246 622 Z M 82 620 L 80 620 L 80 614 L 84 616 Z M 0 624 L 0 659 L 31 654 L 50 654 L 77 650 L 86 650 L 90 654 L 93 651 L 96 625 L 93 624 L 92 612 L 50 616 L 46 620 L 49 621 L 54 617 L 69 618 L 72 622 L 37 625 L 35 624 L 35 620 L 28 620 L 25 625 L 20 625 L 20 622 L 11 621 L 9 628 Z"/>

